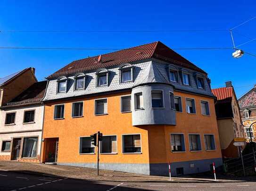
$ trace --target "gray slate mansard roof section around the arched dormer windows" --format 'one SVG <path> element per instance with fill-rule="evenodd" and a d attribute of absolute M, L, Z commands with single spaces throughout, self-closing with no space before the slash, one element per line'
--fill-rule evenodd
<path fill-rule="evenodd" d="M 111 92 L 117 90 L 129 90 L 134 86 L 139 84 L 147 83 L 165 83 L 174 85 L 175 89 L 190 91 L 199 94 L 204 94 L 206 96 L 214 97 L 211 92 L 211 89 L 206 82 L 206 90 L 198 90 L 196 82 L 193 77 L 195 71 L 188 69 L 191 75 L 191 87 L 184 86 L 179 79 L 179 83 L 170 83 L 168 76 L 168 63 L 163 61 L 158 61 L 157 59 L 147 59 L 142 61 L 136 61 L 131 63 L 133 66 L 133 82 L 119 82 L 119 66 L 114 68 L 108 68 L 109 71 L 109 81 L 108 86 L 99 86 L 96 87 L 96 72 L 85 73 L 86 82 L 85 89 L 74 90 L 74 75 L 68 77 L 67 83 L 67 92 L 57 93 L 57 80 L 49 80 L 48 88 L 45 94 L 43 101 L 63 99 L 63 98 L 72 98 L 78 96 L 86 96 L 90 94 L 102 93 L 102 92 Z M 180 76 L 179 76 L 180 77 Z"/>

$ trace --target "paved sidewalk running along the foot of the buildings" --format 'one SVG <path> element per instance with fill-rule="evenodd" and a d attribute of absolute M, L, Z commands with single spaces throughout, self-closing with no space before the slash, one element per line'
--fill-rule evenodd
<path fill-rule="evenodd" d="M 213 183 L 214 179 L 199 177 L 173 177 L 169 181 L 166 176 L 147 176 L 110 170 L 99 170 L 99 176 L 96 175 L 96 169 L 80 168 L 60 165 L 45 165 L 29 162 L 0 161 L 0 171 L 22 172 L 29 174 L 40 174 L 43 176 L 58 176 L 85 180 L 101 180 L 116 182 L 179 182 L 179 183 Z M 249 179 L 218 179 L 218 182 L 245 182 L 256 181 L 256 177 Z"/>

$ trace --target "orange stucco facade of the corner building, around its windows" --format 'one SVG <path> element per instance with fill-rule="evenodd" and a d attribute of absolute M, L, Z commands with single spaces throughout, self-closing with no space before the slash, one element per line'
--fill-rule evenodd
<path fill-rule="evenodd" d="M 96 154 L 79 154 L 80 137 L 87 137 L 97 131 L 103 135 L 117 136 L 117 153 L 100 154 L 100 163 L 158 164 L 192 160 L 221 158 L 220 142 L 215 116 L 214 99 L 195 94 L 174 92 L 182 97 L 182 113 L 176 113 L 177 125 L 132 126 L 132 113 L 121 113 L 120 96 L 131 92 L 106 94 L 95 97 L 61 100 L 45 103 L 43 139 L 58 138 L 58 163 L 95 163 Z M 107 115 L 94 115 L 95 99 L 107 98 Z M 196 114 L 186 112 L 185 98 L 195 99 Z M 209 102 L 210 115 L 202 115 L 200 100 Z M 72 103 L 83 101 L 83 117 L 72 117 Z M 64 119 L 54 120 L 54 105 L 65 103 Z M 172 153 L 170 133 L 182 133 L 185 152 Z M 190 151 L 189 134 L 200 134 L 202 151 Z M 122 135 L 140 134 L 141 153 L 123 153 Z M 215 150 L 206 151 L 204 134 L 213 134 Z M 42 162 L 45 161 L 46 143 L 42 143 Z"/>

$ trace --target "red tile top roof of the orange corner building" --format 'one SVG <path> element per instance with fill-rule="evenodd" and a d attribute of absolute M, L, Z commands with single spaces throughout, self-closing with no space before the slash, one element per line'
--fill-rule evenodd
<path fill-rule="evenodd" d="M 85 58 L 82 60 L 73 61 L 66 65 L 62 69 L 48 76 L 47 79 L 56 78 L 59 76 L 65 76 L 83 71 L 96 70 L 99 68 L 107 68 L 111 66 L 120 65 L 122 63 L 139 61 L 149 58 L 157 58 L 164 61 L 172 61 L 176 65 L 193 69 L 202 73 L 206 73 L 202 69 L 199 69 L 196 65 L 183 58 L 180 54 L 171 50 L 168 46 L 157 41 L 146 45 L 140 45 L 128 49 L 123 49 L 113 53 L 102 54 L 100 63 L 98 62 L 98 56 Z"/>

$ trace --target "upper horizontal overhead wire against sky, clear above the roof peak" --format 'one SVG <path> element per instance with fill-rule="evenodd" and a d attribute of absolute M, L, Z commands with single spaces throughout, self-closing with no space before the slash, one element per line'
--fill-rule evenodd
<path fill-rule="evenodd" d="M 223 29 L 205 29 L 205 30 L 138 30 L 138 31 L 20 31 L 20 30 L 1 30 L 1 33 L 15 33 L 15 32 L 24 32 L 24 33 L 122 33 L 122 32 L 145 32 L 145 33 L 151 33 L 151 32 L 206 32 L 206 31 L 229 31 L 229 30 L 223 30 Z"/>

